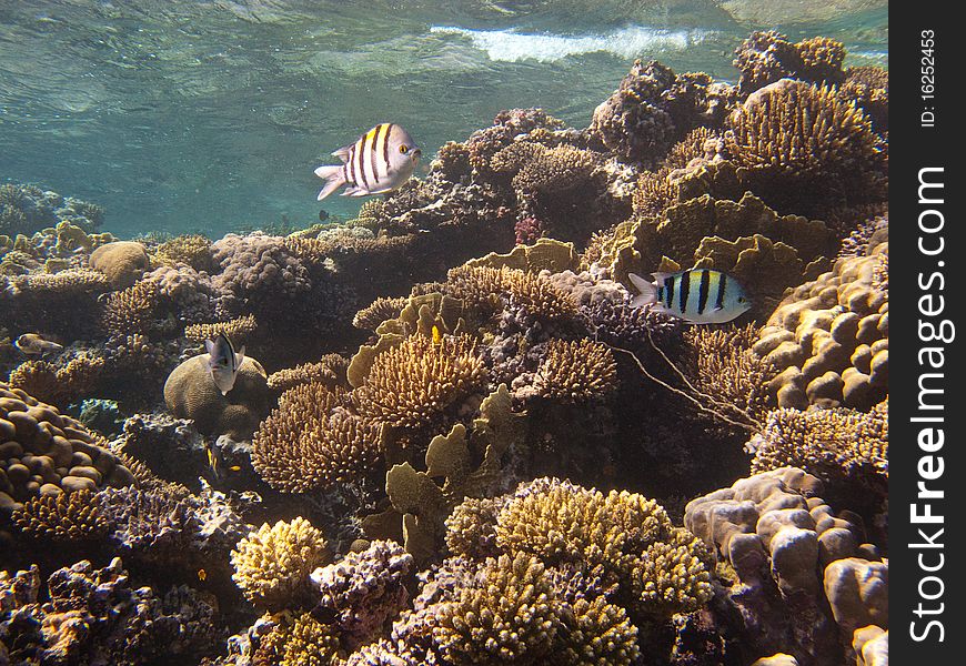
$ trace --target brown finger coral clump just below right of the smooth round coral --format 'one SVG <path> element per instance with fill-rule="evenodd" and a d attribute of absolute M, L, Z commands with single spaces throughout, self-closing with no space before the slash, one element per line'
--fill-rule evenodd
<path fill-rule="evenodd" d="M 285 391 L 252 437 L 252 465 L 272 487 L 302 493 L 359 477 L 380 456 L 379 428 L 344 390 L 311 382 Z"/>

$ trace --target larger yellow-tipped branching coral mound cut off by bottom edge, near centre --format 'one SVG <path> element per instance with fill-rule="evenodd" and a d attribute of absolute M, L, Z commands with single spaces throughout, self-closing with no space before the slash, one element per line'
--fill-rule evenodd
<path fill-rule="evenodd" d="M 487 559 L 480 583 L 443 604 L 433 640 L 454 664 L 541 663 L 560 630 L 551 578 L 525 554 Z"/>

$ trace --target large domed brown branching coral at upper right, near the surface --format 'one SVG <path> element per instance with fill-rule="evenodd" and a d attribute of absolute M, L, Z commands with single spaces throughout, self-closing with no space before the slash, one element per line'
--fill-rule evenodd
<path fill-rule="evenodd" d="M 827 211 L 885 199 L 885 144 L 836 89 L 782 79 L 748 97 L 729 125 L 725 151 L 777 208 Z"/>

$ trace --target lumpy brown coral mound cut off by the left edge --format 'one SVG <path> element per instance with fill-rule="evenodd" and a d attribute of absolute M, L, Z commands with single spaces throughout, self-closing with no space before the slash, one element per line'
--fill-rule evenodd
<path fill-rule="evenodd" d="M 133 482 L 83 425 L 0 382 L 0 509 L 31 497 Z"/>

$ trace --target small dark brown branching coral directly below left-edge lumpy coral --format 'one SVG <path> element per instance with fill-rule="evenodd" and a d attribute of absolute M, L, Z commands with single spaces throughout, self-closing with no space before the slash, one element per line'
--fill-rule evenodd
<path fill-rule="evenodd" d="M 13 512 L 23 532 L 54 541 L 83 541 L 107 533 L 108 518 L 91 491 L 34 497 Z"/>

